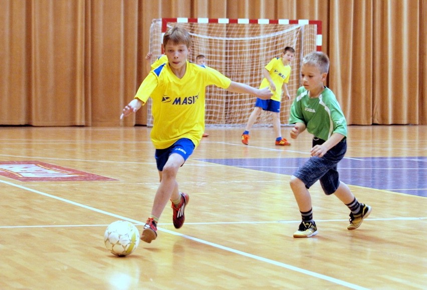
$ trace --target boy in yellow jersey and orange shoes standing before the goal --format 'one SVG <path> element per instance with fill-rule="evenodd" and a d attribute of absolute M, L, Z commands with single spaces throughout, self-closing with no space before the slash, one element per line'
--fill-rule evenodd
<path fill-rule="evenodd" d="M 280 58 L 272 59 L 263 69 L 264 79 L 261 82 L 260 88 L 270 86 L 273 97 L 270 100 L 257 99 L 255 103 L 254 111 L 252 111 L 251 116 L 249 116 L 248 123 L 246 124 L 246 129 L 242 134 L 242 143 L 245 145 L 249 144 L 249 131 L 257 121 L 261 112 L 270 111 L 273 116 L 273 130 L 276 137 L 276 145 L 285 146 L 291 145 L 285 138 L 282 138 L 282 133 L 280 130 L 280 101 L 282 95 L 285 94 L 288 100 L 291 99 L 291 96 L 288 92 L 287 83 L 289 81 L 289 76 L 291 75 L 291 66 L 290 63 L 294 59 L 295 50 L 291 47 L 286 47 Z"/>

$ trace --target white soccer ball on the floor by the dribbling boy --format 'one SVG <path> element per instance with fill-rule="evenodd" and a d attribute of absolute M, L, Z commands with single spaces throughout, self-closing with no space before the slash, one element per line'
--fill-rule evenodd
<path fill-rule="evenodd" d="M 127 256 L 138 247 L 139 231 L 133 223 L 117 220 L 105 230 L 104 242 L 111 253 L 116 256 Z"/>

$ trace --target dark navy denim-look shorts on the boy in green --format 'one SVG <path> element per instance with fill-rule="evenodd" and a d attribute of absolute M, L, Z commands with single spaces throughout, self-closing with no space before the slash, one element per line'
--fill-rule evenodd
<path fill-rule="evenodd" d="M 323 144 L 325 141 L 313 138 L 313 147 Z M 344 158 L 347 151 L 346 139 L 329 149 L 323 157 L 311 157 L 293 174 L 304 182 L 306 188 L 310 188 L 317 180 L 326 195 L 334 193 L 339 186 L 339 174 L 337 164 Z"/>

